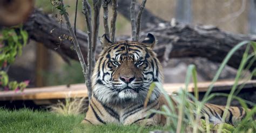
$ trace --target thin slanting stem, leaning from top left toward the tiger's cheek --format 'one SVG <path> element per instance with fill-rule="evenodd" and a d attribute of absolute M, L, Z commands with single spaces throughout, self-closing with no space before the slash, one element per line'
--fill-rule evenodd
<path fill-rule="evenodd" d="M 61 4 L 62 4 L 62 7 L 64 7 L 63 0 L 61 0 L 60 2 L 61 2 Z M 78 56 L 78 58 L 79 58 L 79 61 L 80 61 L 81 66 L 82 66 L 83 73 L 84 73 L 84 78 L 85 78 L 85 82 L 86 82 L 86 80 L 87 80 L 87 79 L 86 79 L 86 78 L 87 78 L 87 77 L 86 77 L 86 70 L 87 70 L 87 67 L 86 67 L 86 64 L 85 64 L 85 61 L 84 61 L 84 57 L 83 57 L 82 51 L 81 51 L 81 49 L 80 49 L 80 47 L 79 47 L 79 44 L 78 44 L 78 41 L 77 41 L 75 32 L 73 31 L 72 26 L 71 26 L 71 24 L 70 24 L 68 14 L 67 14 L 67 13 L 64 13 L 63 16 L 64 16 L 64 18 L 65 18 L 65 20 L 66 20 L 66 26 L 67 26 L 68 29 L 69 29 L 69 33 L 70 33 L 70 35 L 71 35 L 72 38 L 73 38 L 73 44 L 74 44 L 74 46 L 75 46 L 77 56 Z M 89 92 L 89 90 L 88 90 L 88 92 Z"/>

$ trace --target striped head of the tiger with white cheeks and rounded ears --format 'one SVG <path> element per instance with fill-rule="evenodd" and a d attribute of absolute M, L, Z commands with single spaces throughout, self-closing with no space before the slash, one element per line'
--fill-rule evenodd
<path fill-rule="evenodd" d="M 112 43 L 106 35 L 101 40 L 103 51 L 92 76 L 92 93 L 104 104 L 143 103 L 152 82 L 162 80 L 161 65 L 152 50 L 156 40 L 152 34 L 142 42 Z M 154 88 L 150 101 L 159 97 Z"/>

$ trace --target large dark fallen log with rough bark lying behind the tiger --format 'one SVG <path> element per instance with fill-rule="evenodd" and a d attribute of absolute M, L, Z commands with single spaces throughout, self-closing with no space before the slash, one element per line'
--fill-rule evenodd
<path fill-rule="evenodd" d="M 28 31 L 30 39 L 37 42 L 42 42 L 52 50 L 57 51 L 64 58 L 78 60 L 76 52 L 71 50 L 72 43 L 68 40 L 59 41 L 59 36 L 62 34 L 69 35 L 68 29 L 63 24 L 41 11 L 36 10 L 29 20 L 24 24 L 24 28 Z M 51 32 L 52 31 L 52 32 Z M 154 34 L 158 40 L 158 44 L 154 48 L 160 61 L 164 60 L 166 48 L 170 48 L 171 52 L 167 53 L 167 58 L 182 58 L 182 57 L 205 57 L 213 62 L 222 62 L 237 43 L 244 40 L 256 41 L 255 35 L 232 34 L 221 31 L 214 26 L 191 26 L 170 23 L 162 23 L 159 26 L 147 28 L 142 32 L 146 35 L 148 32 Z M 144 37 L 142 36 L 142 38 Z M 77 39 L 82 50 L 84 58 L 87 53 L 87 34 L 77 30 Z M 130 36 L 118 36 L 117 40 L 129 40 Z M 60 45 L 59 45 L 60 43 Z M 98 47 L 96 51 L 96 59 L 102 48 Z M 242 54 L 245 48 L 239 49 L 228 62 L 233 68 L 238 68 Z M 256 67 L 256 63 L 252 68 Z"/>

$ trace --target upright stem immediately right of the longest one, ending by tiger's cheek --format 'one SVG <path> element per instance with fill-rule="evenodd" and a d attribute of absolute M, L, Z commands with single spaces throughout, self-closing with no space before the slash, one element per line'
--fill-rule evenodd
<path fill-rule="evenodd" d="M 95 54 L 96 54 L 96 47 L 97 47 L 97 40 L 99 34 L 99 13 L 100 7 L 102 6 L 102 0 L 93 0 L 93 28 L 92 28 L 92 68 L 95 66 Z M 92 69 L 91 69 L 92 70 Z M 91 76 L 91 75 L 90 75 Z"/>

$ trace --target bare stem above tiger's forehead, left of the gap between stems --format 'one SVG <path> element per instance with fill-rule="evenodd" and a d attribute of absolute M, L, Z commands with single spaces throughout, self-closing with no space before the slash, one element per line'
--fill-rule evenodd
<path fill-rule="evenodd" d="M 111 41 L 115 42 L 114 34 L 116 34 L 116 21 L 117 21 L 117 0 L 112 1 L 112 12 L 113 16 L 111 18 Z"/>

